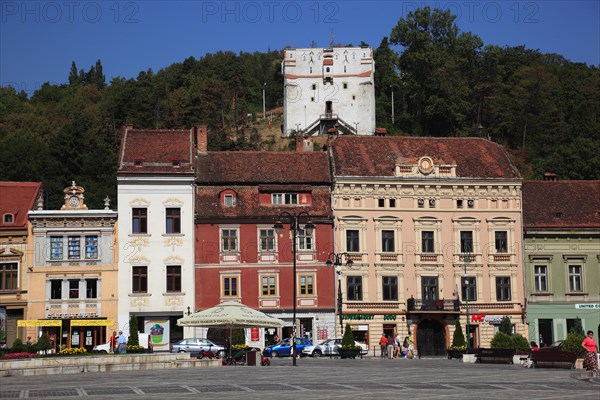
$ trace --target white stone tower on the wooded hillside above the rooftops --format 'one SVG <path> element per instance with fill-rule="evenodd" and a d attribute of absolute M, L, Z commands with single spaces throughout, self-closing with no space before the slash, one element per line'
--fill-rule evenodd
<path fill-rule="evenodd" d="M 285 49 L 282 73 L 283 136 L 375 133 L 371 48 Z"/>

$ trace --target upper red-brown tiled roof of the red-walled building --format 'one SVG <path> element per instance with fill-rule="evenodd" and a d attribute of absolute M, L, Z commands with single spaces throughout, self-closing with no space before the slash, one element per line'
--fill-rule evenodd
<path fill-rule="evenodd" d="M 327 184 L 327 153 L 222 151 L 198 156 L 198 184 Z"/>

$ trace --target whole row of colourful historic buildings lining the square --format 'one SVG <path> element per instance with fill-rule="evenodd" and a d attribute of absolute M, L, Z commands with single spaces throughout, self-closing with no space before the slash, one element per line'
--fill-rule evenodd
<path fill-rule="evenodd" d="M 312 151 L 209 152 L 206 127 L 126 126 L 118 210 L 2 183 L 7 340 L 91 346 L 136 316 L 155 348 L 218 333 L 176 325 L 228 300 L 313 339 L 350 323 L 370 346 L 413 332 L 444 354 L 454 323 L 489 346 L 503 316 L 550 343 L 600 325 L 599 181 L 523 181 L 479 138 L 338 136 Z M 11 217 L 12 216 L 12 217 Z M 295 274 L 294 274 L 295 271 Z M 294 288 L 296 289 L 294 293 Z M 464 329 L 464 328 L 463 328 Z"/>

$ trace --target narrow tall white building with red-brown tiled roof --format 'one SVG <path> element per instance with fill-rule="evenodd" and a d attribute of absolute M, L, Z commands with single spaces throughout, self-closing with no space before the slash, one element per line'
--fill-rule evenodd
<path fill-rule="evenodd" d="M 155 350 L 183 337 L 194 309 L 193 130 L 124 128 L 119 154 L 119 328 L 150 333 Z"/>

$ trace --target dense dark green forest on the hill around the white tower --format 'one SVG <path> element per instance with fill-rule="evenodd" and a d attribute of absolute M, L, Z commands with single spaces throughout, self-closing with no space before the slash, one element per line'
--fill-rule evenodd
<path fill-rule="evenodd" d="M 377 126 L 389 134 L 487 137 L 526 179 L 547 171 L 600 179 L 598 66 L 484 45 L 449 11 L 428 7 L 400 19 L 374 56 Z M 281 60 L 281 51 L 218 52 L 109 83 L 101 61 L 87 71 L 73 63 L 68 84 L 44 84 L 30 97 L 0 88 L 0 180 L 42 181 L 51 209 L 75 180 L 100 208 L 106 195 L 116 199 L 125 123 L 207 124 L 211 150 L 261 148 L 251 122 L 262 114 L 263 88 L 267 109 L 283 103 Z"/>

